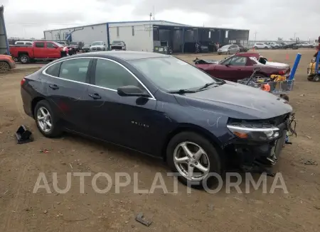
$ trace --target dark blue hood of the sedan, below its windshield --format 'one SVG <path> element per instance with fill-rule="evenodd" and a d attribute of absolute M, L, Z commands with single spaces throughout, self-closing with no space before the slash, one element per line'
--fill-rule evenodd
<path fill-rule="evenodd" d="M 191 94 L 175 94 L 179 104 L 238 119 L 274 118 L 292 111 L 287 101 L 261 89 L 225 82 Z"/>

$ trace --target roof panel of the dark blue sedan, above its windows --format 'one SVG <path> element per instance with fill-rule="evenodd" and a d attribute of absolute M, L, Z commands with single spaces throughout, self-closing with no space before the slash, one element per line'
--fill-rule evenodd
<path fill-rule="evenodd" d="M 170 55 L 164 55 L 161 53 L 146 53 L 146 52 L 134 52 L 134 51 L 105 51 L 95 53 L 82 53 L 79 55 L 73 55 L 73 57 L 115 57 L 121 60 L 139 60 L 156 57 L 170 57 Z"/>

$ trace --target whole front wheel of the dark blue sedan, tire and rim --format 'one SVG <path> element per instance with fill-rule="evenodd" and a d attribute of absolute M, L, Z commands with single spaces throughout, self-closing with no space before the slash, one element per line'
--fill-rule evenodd
<path fill-rule="evenodd" d="M 193 132 L 178 133 L 166 149 L 169 167 L 178 173 L 181 183 L 190 187 L 211 187 L 221 175 L 221 161 L 217 150 L 209 140 Z"/>

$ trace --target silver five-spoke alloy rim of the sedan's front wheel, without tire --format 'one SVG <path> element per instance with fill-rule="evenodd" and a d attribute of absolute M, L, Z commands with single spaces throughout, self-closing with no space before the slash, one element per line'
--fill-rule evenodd
<path fill-rule="evenodd" d="M 208 155 L 200 145 L 183 142 L 174 149 L 174 165 L 188 180 L 201 181 L 206 178 L 210 170 Z"/>

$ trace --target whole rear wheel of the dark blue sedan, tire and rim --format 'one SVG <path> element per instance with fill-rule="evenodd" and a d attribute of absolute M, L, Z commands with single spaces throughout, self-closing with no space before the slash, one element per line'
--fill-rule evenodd
<path fill-rule="evenodd" d="M 39 101 L 33 112 L 39 131 L 48 138 L 55 138 L 61 135 L 62 130 L 58 118 L 53 113 L 50 104 L 46 100 Z"/>

